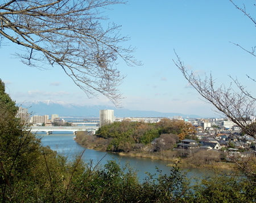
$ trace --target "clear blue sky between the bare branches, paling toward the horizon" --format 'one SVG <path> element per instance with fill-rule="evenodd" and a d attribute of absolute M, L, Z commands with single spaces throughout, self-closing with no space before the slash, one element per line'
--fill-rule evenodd
<path fill-rule="evenodd" d="M 254 1 L 237 2 L 245 2 L 255 14 Z M 130 37 L 125 44 L 137 48 L 134 56 L 143 63 L 129 67 L 119 61 L 117 65 L 126 75 L 119 87 L 124 108 L 215 116 L 212 105 L 188 86 L 172 62 L 174 49 L 199 75 L 212 73 L 218 84 L 229 84 L 232 75 L 255 95 L 255 83 L 246 78 L 246 74 L 255 76 L 255 58 L 230 43 L 250 49 L 256 44 L 255 27 L 228 0 L 129 0 L 111 6 L 105 14 L 109 22 L 122 26 L 121 35 Z M 113 105 L 101 95 L 88 99 L 58 67 L 46 65 L 39 70 L 23 65 L 12 55 L 21 49 L 7 40 L 0 48 L 0 78 L 16 102 Z"/>

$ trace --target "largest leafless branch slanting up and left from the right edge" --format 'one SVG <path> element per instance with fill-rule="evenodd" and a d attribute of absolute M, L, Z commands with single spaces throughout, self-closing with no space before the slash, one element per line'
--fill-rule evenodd
<path fill-rule="evenodd" d="M 209 76 L 205 75 L 205 78 L 202 79 L 196 76 L 192 71 L 189 73 L 177 54 L 176 57 L 177 60 L 173 61 L 189 84 L 191 84 L 204 99 L 210 104 L 213 104 L 217 112 L 221 112 L 222 115 L 228 117 L 231 121 L 240 126 L 243 132 L 255 138 L 255 129 L 250 128 L 248 124 L 250 124 L 250 117 L 255 116 L 254 108 L 256 99 L 244 88 L 239 88 L 239 91 L 234 91 L 232 83 L 230 83 L 228 87 L 222 84 L 220 87 L 216 88 L 211 74 Z"/>

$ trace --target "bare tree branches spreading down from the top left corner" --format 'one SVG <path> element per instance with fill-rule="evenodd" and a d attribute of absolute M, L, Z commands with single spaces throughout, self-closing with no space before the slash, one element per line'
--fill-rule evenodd
<path fill-rule="evenodd" d="M 60 66 L 89 97 L 98 92 L 114 104 L 121 98 L 123 76 L 116 68 L 122 58 L 138 65 L 133 48 L 120 44 L 119 26 L 107 24 L 102 12 L 122 0 L 3 0 L 0 37 L 23 46 L 24 64 Z M 103 24 L 105 23 L 105 24 Z"/>

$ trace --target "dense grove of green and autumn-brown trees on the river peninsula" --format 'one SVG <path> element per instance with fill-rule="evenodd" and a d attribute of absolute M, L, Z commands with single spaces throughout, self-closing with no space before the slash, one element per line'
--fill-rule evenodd
<path fill-rule="evenodd" d="M 183 120 L 162 119 L 154 124 L 123 120 L 102 126 L 96 137 L 108 145 L 108 151 L 128 152 L 142 149 L 152 141 L 156 144 L 155 150 L 171 149 L 179 139 L 191 138 L 194 134 L 195 127 Z"/>

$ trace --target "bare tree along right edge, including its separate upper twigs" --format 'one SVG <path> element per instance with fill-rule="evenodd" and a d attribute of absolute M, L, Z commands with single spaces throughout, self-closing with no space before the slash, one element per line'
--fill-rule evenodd
<path fill-rule="evenodd" d="M 240 7 L 234 3 L 234 1 L 230 0 L 230 2 L 236 7 L 236 9 L 240 10 L 247 18 L 256 25 L 255 19 L 251 16 L 247 11 L 245 5 Z M 253 5 L 255 7 L 255 4 Z M 255 55 L 255 46 L 251 47 L 251 50 L 243 48 L 243 46 L 233 43 L 246 52 L 250 53 L 252 56 Z M 175 52 L 176 54 L 176 52 Z M 235 124 L 240 126 L 243 132 L 249 134 L 254 137 L 254 141 L 256 138 L 255 125 L 250 124 L 250 117 L 255 116 L 255 103 L 256 97 L 252 95 L 249 91 L 246 90 L 245 86 L 243 86 L 237 78 L 232 78 L 235 86 L 232 83 L 229 86 L 225 86 L 222 84 L 219 87 L 216 87 L 215 81 L 212 77 L 212 74 L 205 75 L 204 78 L 200 78 L 198 75 L 193 73 L 193 71 L 188 71 L 185 67 L 184 63 L 181 61 L 180 57 L 176 54 L 177 59 L 173 60 L 175 65 L 179 68 L 185 79 L 191 84 L 197 92 L 204 99 L 207 100 L 210 104 L 213 104 L 216 107 L 217 112 L 220 112 L 222 115 L 228 117 Z M 247 75 L 251 79 L 251 81 L 256 82 L 253 76 Z M 250 125 L 249 125 L 250 124 Z M 255 166 L 256 160 L 255 158 L 251 158 L 251 156 L 247 157 L 247 160 L 241 161 L 240 159 L 233 158 L 234 162 L 238 164 L 240 168 L 245 172 L 245 174 L 249 176 L 253 176 L 255 178 L 256 171 Z"/>

